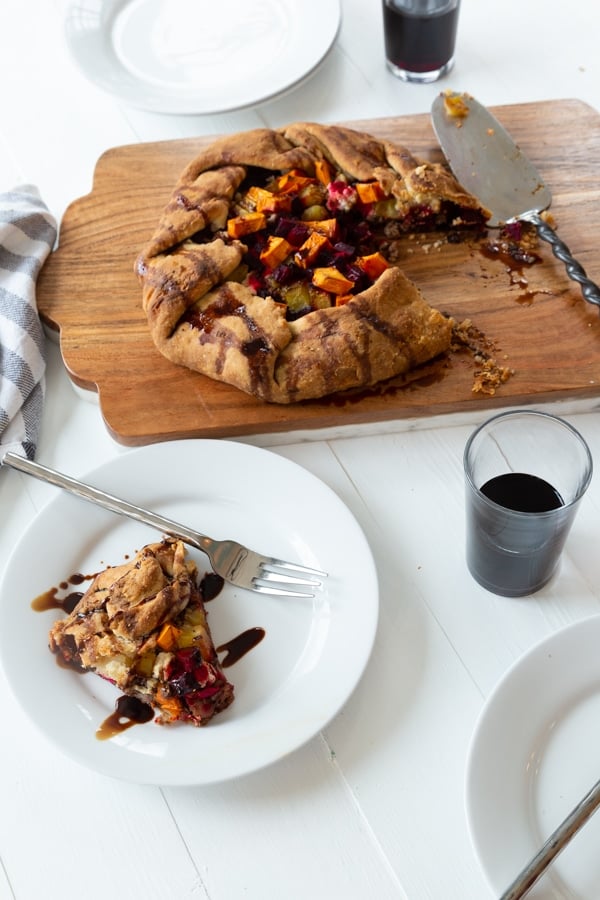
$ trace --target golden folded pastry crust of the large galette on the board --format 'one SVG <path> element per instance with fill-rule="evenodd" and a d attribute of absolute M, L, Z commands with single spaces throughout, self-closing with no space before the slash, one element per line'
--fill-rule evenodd
<path fill-rule="evenodd" d="M 339 305 L 292 320 L 285 304 L 258 294 L 245 277 L 248 241 L 226 228 L 253 175 L 300 171 L 315 179 L 322 164 L 342 187 L 377 186 L 384 203 L 369 215 L 380 235 L 390 221 L 407 231 L 419 217 L 455 227 L 481 226 L 489 216 L 446 168 L 369 134 L 295 123 L 223 137 L 184 170 L 136 261 L 164 356 L 262 400 L 290 403 L 371 386 L 449 348 L 451 322 L 397 267 Z"/>

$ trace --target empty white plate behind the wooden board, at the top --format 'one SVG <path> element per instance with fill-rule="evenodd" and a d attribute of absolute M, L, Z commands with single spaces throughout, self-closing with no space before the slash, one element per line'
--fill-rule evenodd
<path fill-rule="evenodd" d="M 65 37 L 99 87 L 163 113 L 219 113 L 293 87 L 329 52 L 339 0 L 72 0 Z"/>

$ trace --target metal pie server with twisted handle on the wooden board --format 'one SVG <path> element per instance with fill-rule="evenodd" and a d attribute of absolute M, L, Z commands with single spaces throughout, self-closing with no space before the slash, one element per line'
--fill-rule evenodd
<path fill-rule="evenodd" d="M 565 264 L 589 303 L 600 306 L 600 288 L 573 258 L 567 245 L 540 213 L 552 194 L 533 163 L 508 131 L 470 94 L 438 94 L 431 108 L 433 128 L 454 175 L 491 211 L 488 227 L 530 222 Z"/>

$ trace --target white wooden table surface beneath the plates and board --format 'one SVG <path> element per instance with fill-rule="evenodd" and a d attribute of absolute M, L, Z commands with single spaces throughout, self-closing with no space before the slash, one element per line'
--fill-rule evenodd
<path fill-rule="evenodd" d="M 284 98 L 173 117 L 129 108 L 83 77 L 63 45 L 61 3 L 4 0 L 0 189 L 36 184 L 60 219 L 88 193 L 98 157 L 112 146 L 303 118 L 427 112 L 441 87 L 472 91 L 488 105 L 577 97 L 600 106 L 594 0 L 463 0 L 455 69 L 429 86 L 386 71 L 379 0 L 342 0 L 342 7 L 332 52 Z M 600 261 L 589 274 L 600 279 Z M 590 401 L 563 412 L 600 459 L 597 407 Z M 425 420 L 397 433 L 273 442 L 273 452 L 330 485 L 355 515 L 375 556 L 381 604 L 357 690 L 321 734 L 283 761 L 208 788 L 113 781 L 50 745 L 0 681 L 2 900 L 492 896 L 465 815 L 471 735 L 486 697 L 521 654 L 600 612 L 600 480 L 553 582 L 526 600 L 495 597 L 464 564 L 462 451 L 471 428 L 471 421 Z M 77 476 L 123 452 L 50 345 L 38 460 Z M 51 487 L 0 472 L 0 567 L 54 496 Z"/>

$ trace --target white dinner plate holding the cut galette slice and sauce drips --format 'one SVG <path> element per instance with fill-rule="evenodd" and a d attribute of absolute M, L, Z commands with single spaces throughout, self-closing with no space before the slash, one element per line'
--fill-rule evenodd
<path fill-rule="evenodd" d="M 15 548 L 0 587 L 0 659 L 17 700 L 42 732 L 106 775 L 198 785 L 262 768 L 322 729 L 363 673 L 378 614 L 371 551 L 337 495 L 284 457 L 233 441 L 143 447 L 85 480 L 212 537 L 240 540 L 329 577 L 313 599 L 226 584 L 207 605 L 215 645 L 247 628 L 266 632 L 226 669 L 233 704 L 203 728 L 149 722 L 101 741 L 96 730 L 114 711 L 118 692 L 92 673 L 57 665 L 48 631 L 62 613 L 34 612 L 31 601 L 76 573 L 124 562 L 160 535 L 58 493 Z M 190 553 L 201 571 L 208 569 L 202 553 Z"/>

